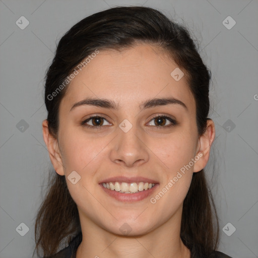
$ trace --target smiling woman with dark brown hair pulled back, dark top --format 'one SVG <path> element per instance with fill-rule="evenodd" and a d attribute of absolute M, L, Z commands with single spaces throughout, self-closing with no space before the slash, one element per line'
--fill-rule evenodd
<path fill-rule="evenodd" d="M 209 82 L 187 30 L 157 10 L 117 7 L 74 25 L 46 74 L 42 128 L 56 174 L 37 253 L 229 257 L 216 251 L 204 172 Z"/>

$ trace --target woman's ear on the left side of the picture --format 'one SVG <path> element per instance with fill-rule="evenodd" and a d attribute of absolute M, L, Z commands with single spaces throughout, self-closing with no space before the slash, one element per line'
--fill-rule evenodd
<path fill-rule="evenodd" d="M 48 149 L 48 154 L 51 160 L 51 163 L 54 167 L 54 170 L 59 175 L 64 175 L 63 164 L 61 159 L 61 154 L 58 146 L 58 141 L 53 137 L 48 130 L 48 121 L 45 119 L 42 122 L 42 131 L 44 142 Z"/>

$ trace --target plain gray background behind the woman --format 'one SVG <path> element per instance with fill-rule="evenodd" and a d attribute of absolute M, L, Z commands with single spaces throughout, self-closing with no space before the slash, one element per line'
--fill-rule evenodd
<path fill-rule="evenodd" d="M 31 257 L 35 246 L 35 216 L 52 167 L 41 129 L 46 118 L 43 78 L 56 43 L 81 19 L 117 5 L 157 8 L 184 22 L 200 41 L 213 81 L 210 117 L 216 124 L 215 158 L 209 161 L 207 174 L 220 218 L 219 250 L 233 258 L 258 257 L 255 0 L 0 0 L 0 257 Z M 29 21 L 23 30 L 16 25 L 21 16 Z M 228 16 L 236 22 L 231 29 L 223 25 Z M 232 25 L 232 20 L 225 22 Z M 26 125 L 22 119 L 28 128 L 22 127 Z M 22 222 L 29 227 L 25 236 L 16 231 Z M 236 228 L 231 236 L 223 231 L 227 223 L 232 224 L 226 227 L 228 234 Z"/>

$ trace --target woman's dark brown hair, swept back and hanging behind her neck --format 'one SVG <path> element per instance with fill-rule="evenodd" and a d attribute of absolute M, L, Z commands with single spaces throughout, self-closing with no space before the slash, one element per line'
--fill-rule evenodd
<path fill-rule="evenodd" d="M 163 49 L 185 72 L 195 97 L 198 133 L 201 136 L 205 132 L 209 119 L 211 75 L 198 53 L 197 43 L 183 25 L 169 20 L 155 9 L 116 7 L 81 20 L 58 43 L 45 78 L 48 128 L 54 137 L 58 133 L 59 104 L 69 86 L 55 97 L 50 97 L 57 87 L 96 49 L 122 50 L 138 43 L 148 43 Z M 81 230 L 78 209 L 65 177 L 51 173 L 49 188 L 35 223 L 35 249 L 40 255 L 41 248 L 43 257 L 56 253 L 63 240 L 68 244 Z M 218 247 L 218 217 L 204 170 L 193 173 L 183 202 L 180 237 L 190 249 L 191 257 L 209 257 Z"/>

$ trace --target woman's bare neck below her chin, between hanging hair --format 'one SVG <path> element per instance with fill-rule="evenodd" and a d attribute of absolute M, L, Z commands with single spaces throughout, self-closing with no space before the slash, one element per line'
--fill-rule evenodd
<path fill-rule="evenodd" d="M 134 236 L 113 234 L 85 218 L 81 226 L 83 238 L 76 258 L 190 258 L 180 238 L 180 223 L 173 223 L 173 218 L 147 234 Z"/>

